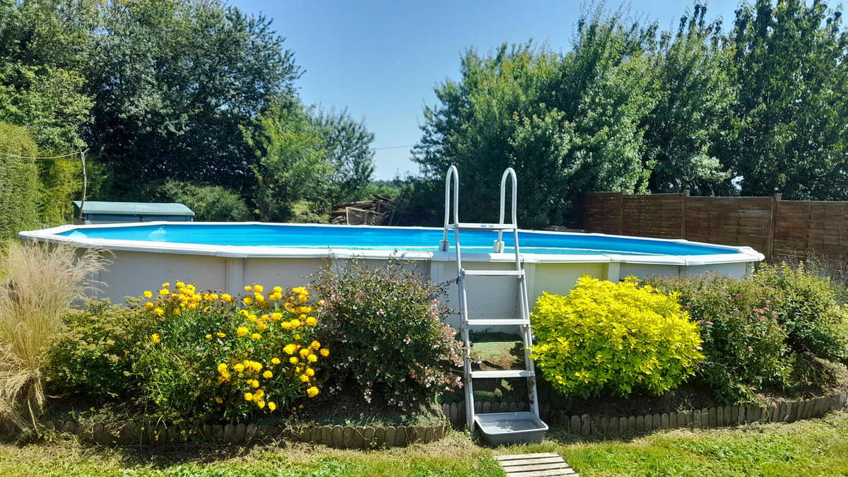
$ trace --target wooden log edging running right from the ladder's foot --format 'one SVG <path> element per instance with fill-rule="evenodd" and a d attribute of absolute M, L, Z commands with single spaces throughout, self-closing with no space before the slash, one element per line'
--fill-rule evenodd
<path fill-rule="evenodd" d="M 654 429 L 709 429 L 753 423 L 790 423 L 802 419 L 820 418 L 830 411 L 848 407 L 848 391 L 792 401 L 773 401 L 769 407 L 755 405 L 719 406 L 679 412 L 662 412 L 641 416 L 608 416 L 569 414 L 566 411 L 542 406 L 539 414 L 550 427 L 565 429 L 574 435 L 645 432 Z M 475 412 L 515 412 L 527 410 L 526 402 L 474 403 Z M 442 412 L 457 429 L 466 425 L 466 405 L 454 402 L 442 405 Z"/>

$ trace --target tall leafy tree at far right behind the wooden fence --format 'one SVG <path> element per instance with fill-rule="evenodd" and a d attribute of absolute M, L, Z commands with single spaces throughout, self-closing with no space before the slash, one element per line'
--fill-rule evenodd
<path fill-rule="evenodd" d="M 720 146 L 744 195 L 848 198 L 848 34 L 819 0 L 757 0 L 728 37 L 737 96 Z"/>

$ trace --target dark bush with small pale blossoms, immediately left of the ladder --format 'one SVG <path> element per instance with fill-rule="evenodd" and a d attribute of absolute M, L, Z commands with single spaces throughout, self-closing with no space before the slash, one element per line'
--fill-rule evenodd
<path fill-rule="evenodd" d="M 390 261 L 323 269 L 315 287 L 326 302 L 321 338 L 338 362 L 331 392 L 410 409 L 461 385 L 453 371 L 462 365 L 462 345 L 444 322 L 448 311 L 437 284 Z"/>

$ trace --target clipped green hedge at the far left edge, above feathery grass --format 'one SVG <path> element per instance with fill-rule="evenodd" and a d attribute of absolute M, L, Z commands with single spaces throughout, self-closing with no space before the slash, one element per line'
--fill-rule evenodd
<path fill-rule="evenodd" d="M 38 148 L 23 127 L 0 122 L 0 153 L 36 156 Z M 34 160 L 0 154 L 0 240 L 39 225 L 40 186 Z"/>

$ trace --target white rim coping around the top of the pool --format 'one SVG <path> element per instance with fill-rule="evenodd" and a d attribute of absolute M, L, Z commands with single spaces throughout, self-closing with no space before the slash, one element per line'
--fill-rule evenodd
<path fill-rule="evenodd" d="M 58 235 L 73 229 L 106 228 L 106 227 L 142 227 L 161 226 L 177 224 L 181 226 L 192 225 L 259 225 L 259 226 L 298 226 L 298 227 L 355 227 L 355 228 L 412 228 L 420 230 L 443 230 L 441 227 L 386 227 L 367 225 L 335 225 L 335 224 L 304 224 L 304 223 L 278 223 L 278 222 L 119 222 L 107 224 L 89 225 L 62 225 L 59 227 L 43 228 L 18 233 L 19 239 L 37 240 L 51 244 L 66 244 L 86 249 L 104 250 L 126 250 L 137 252 L 156 252 L 183 255 L 210 255 L 223 258 L 323 258 L 330 260 L 344 260 L 352 258 L 387 260 L 399 258 L 404 260 L 421 261 L 455 261 L 455 253 L 444 251 L 404 251 L 404 250 L 354 250 L 354 249 L 307 249 L 298 247 L 271 247 L 264 245 L 210 245 L 210 244 L 178 244 L 174 242 L 153 242 L 147 240 L 116 240 L 116 239 L 73 239 Z M 706 244 L 704 242 L 692 242 L 686 239 L 654 239 L 647 237 L 633 237 L 628 235 L 612 235 L 605 233 L 573 233 L 553 232 L 547 230 L 519 229 L 520 232 L 544 233 L 551 235 L 580 235 L 595 237 L 611 237 L 617 239 L 639 239 L 656 242 L 672 242 L 678 244 L 705 245 L 736 250 L 734 253 L 713 255 L 619 255 L 619 254 L 534 254 L 522 253 L 524 263 L 627 263 L 644 265 L 678 265 L 678 266 L 702 266 L 719 263 L 741 263 L 751 261 L 762 261 L 765 255 L 747 247 L 734 245 Z M 466 261 L 514 261 L 515 255 L 504 253 L 474 253 L 463 254 Z"/>

